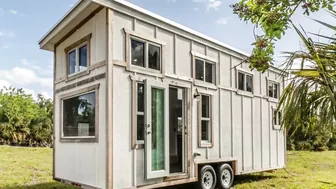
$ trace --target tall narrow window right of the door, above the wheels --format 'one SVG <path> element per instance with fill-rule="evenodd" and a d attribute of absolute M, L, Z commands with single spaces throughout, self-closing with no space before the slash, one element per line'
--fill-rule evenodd
<path fill-rule="evenodd" d="M 208 95 L 201 95 L 199 102 L 200 110 L 200 147 L 204 147 L 204 144 L 212 143 L 212 125 L 211 125 L 211 97 Z"/>

